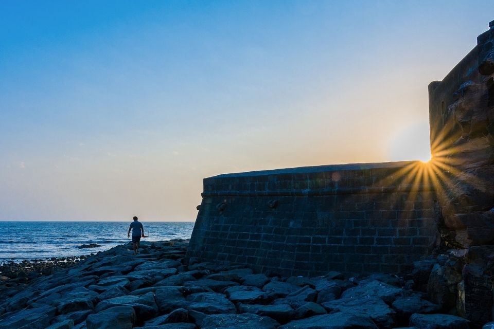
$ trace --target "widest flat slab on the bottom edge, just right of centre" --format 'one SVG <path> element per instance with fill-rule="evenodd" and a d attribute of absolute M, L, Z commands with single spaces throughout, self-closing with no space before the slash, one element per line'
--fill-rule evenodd
<path fill-rule="evenodd" d="M 281 325 L 278 329 L 378 329 L 366 317 L 349 313 L 317 315 L 303 320 L 295 320 Z"/>

